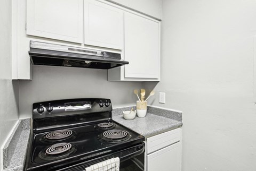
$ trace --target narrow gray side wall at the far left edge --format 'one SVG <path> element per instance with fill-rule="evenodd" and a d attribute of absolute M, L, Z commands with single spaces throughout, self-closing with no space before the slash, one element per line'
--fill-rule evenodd
<path fill-rule="evenodd" d="M 18 114 L 18 81 L 11 80 L 11 1 L 0 1 L 0 147 Z M 0 157 L 1 158 L 1 157 Z M 0 159 L 0 170 L 2 160 Z"/>

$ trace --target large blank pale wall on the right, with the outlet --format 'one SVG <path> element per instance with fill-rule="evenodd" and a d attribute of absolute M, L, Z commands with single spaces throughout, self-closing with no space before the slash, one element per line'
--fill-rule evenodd
<path fill-rule="evenodd" d="M 254 0 L 163 0 L 161 82 L 181 110 L 182 170 L 255 170 Z M 255 46 L 256 47 L 256 46 Z"/>

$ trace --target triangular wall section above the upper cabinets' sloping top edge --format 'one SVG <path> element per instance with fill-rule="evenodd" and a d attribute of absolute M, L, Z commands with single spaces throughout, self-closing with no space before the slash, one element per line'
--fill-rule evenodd
<path fill-rule="evenodd" d="M 162 1 L 161 0 L 106 0 L 124 5 L 142 13 L 162 19 Z"/>

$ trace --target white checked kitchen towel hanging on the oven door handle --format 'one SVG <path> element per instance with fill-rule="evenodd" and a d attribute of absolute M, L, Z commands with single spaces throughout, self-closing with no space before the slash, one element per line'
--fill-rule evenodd
<path fill-rule="evenodd" d="M 119 171 L 120 159 L 118 157 L 111 158 L 90 167 L 86 167 L 86 171 Z"/>

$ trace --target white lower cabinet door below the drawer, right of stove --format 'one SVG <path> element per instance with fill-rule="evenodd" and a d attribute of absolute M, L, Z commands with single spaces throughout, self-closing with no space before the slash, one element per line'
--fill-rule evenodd
<path fill-rule="evenodd" d="M 147 156 L 148 171 L 180 171 L 180 142 Z"/>

